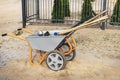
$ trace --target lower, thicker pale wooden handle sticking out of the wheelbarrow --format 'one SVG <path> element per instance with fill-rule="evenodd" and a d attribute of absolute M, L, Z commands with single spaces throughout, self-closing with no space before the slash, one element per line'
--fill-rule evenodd
<path fill-rule="evenodd" d="M 81 24 L 80 26 L 77 26 L 77 27 L 74 27 L 74 28 L 71 28 L 71 29 L 64 30 L 64 31 L 62 31 L 62 32 L 59 32 L 58 34 L 61 35 L 61 34 L 65 34 L 65 33 L 71 32 L 71 31 L 75 31 L 75 30 L 84 28 L 84 27 L 86 27 L 86 26 L 95 25 L 95 24 L 98 24 L 98 23 L 100 23 L 101 21 L 104 21 L 104 20 L 107 20 L 107 19 L 108 19 L 108 16 L 103 16 L 103 17 L 101 17 L 101 18 L 99 18 L 99 19 L 96 19 L 96 20 L 93 20 L 93 21 L 91 21 L 91 22 L 83 23 L 83 24 Z"/>

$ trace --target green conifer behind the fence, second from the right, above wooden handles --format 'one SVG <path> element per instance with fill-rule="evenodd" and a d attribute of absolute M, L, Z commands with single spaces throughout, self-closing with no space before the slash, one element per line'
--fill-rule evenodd
<path fill-rule="evenodd" d="M 82 5 L 81 22 L 93 17 L 91 0 L 84 0 Z"/>

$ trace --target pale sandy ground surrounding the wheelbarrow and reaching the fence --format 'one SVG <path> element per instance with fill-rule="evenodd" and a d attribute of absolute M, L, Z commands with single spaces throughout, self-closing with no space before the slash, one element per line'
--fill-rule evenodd
<path fill-rule="evenodd" d="M 0 2 L 0 34 L 21 27 L 20 0 Z M 8 14 L 9 13 L 9 14 Z M 32 31 L 66 29 L 51 25 L 29 25 Z M 24 34 L 22 36 L 27 36 Z M 45 62 L 29 64 L 26 43 L 0 37 L 0 80 L 120 80 L 120 30 L 84 28 L 74 34 L 77 55 L 64 70 L 51 71 Z"/>

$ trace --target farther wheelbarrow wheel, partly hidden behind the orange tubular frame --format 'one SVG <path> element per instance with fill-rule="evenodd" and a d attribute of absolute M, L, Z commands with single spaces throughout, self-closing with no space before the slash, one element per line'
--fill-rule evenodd
<path fill-rule="evenodd" d="M 65 52 L 65 51 L 68 51 L 70 48 L 69 48 L 69 45 L 67 43 L 64 43 L 62 46 L 61 46 L 61 49 Z M 69 53 L 68 55 L 65 55 L 65 59 L 67 61 L 72 61 L 76 56 L 76 51 L 73 50 L 71 53 Z"/>

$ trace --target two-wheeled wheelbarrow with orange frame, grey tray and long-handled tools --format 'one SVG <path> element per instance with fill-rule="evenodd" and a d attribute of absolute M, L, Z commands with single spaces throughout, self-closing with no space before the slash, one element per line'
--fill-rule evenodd
<path fill-rule="evenodd" d="M 95 25 L 108 19 L 108 16 L 96 19 L 101 14 L 106 11 L 101 12 L 90 20 L 84 22 L 83 24 L 74 25 L 73 28 L 67 30 L 53 30 L 53 31 L 39 31 L 32 32 L 27 29 L 18 29 L 18 33 L 27 32 L 30 33 L 26 38 L 17 36 L 13 33 L 5 33 L 2 36 L 11 36 L 13 38 L 18 38 L 25 41 L 30 50 L 30 63 L 32 65 L 40 65 L 46 61 L 47 66 L 54 71 L 61 70 L 65 68 L 66 60 L 73 60 L 76 54 L 76 41 L 73 37 L 73 33 L 86 26 Z M 94 20 L 96 19 L 96 20 Z M 77 27 L 76 27 L 77 26 Z M 39 54 L 39 61 L 35 64 L 33 57 L 33 50 Z"/>

